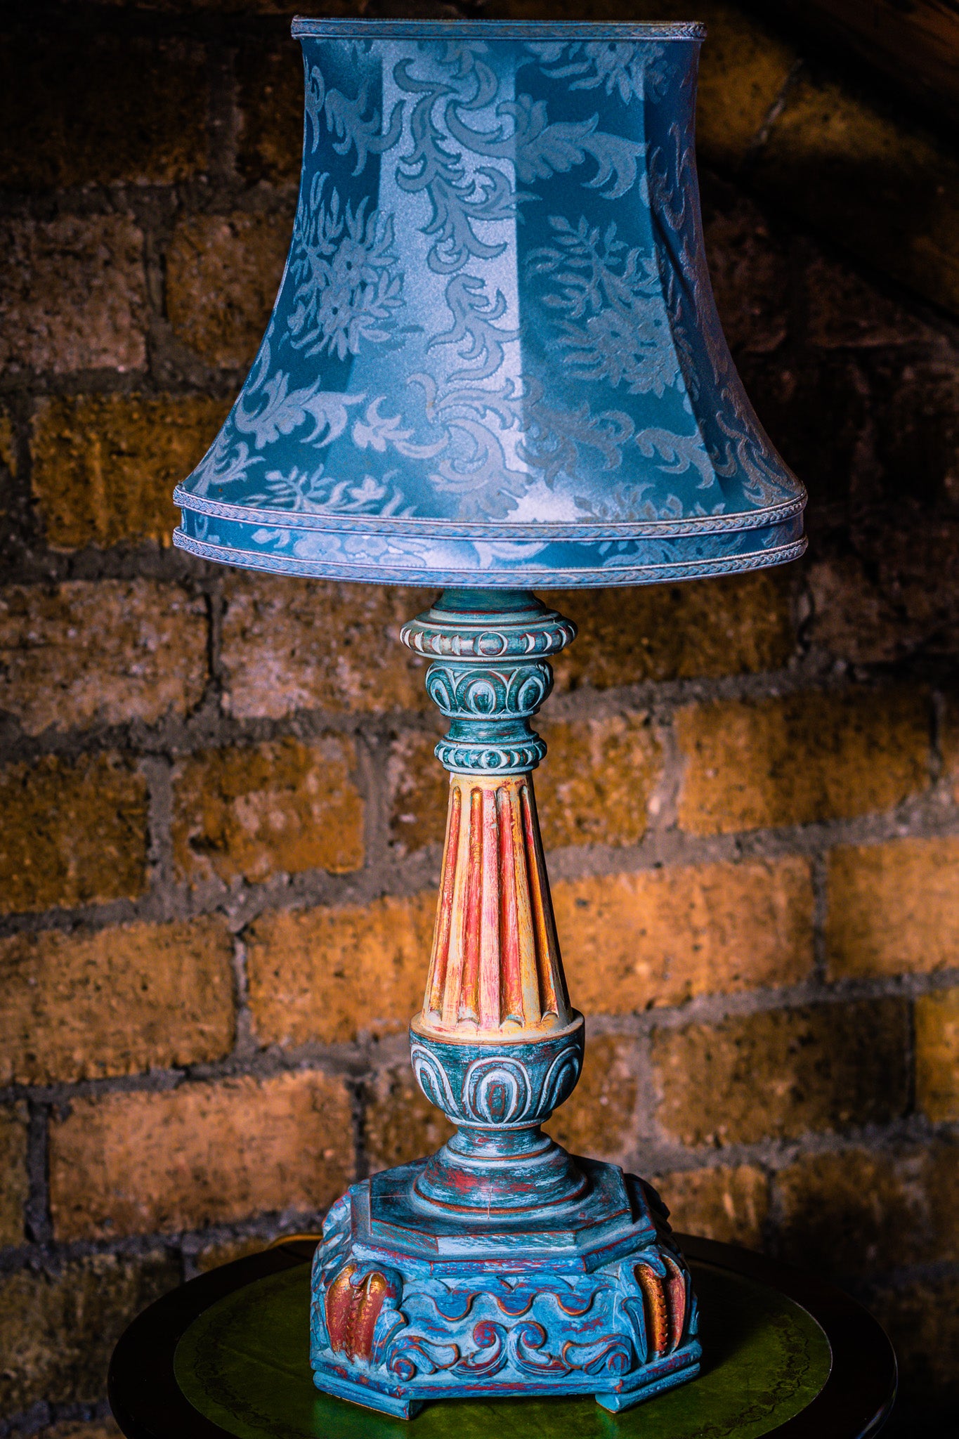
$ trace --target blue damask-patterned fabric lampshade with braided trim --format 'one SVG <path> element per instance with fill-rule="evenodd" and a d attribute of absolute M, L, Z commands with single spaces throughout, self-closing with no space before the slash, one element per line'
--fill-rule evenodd
<path fill-rule="evenodd" d="M 723 338 L 699 24 L 295 20 L 306 118 L 253 370 L 175 544 L 257 570 L 574 587 L 799 555 Z M 292 83 L 292 79 L 290 79 Z"/>

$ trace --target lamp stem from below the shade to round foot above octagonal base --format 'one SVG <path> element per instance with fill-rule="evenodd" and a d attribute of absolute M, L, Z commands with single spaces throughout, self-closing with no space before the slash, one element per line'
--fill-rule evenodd
<path fill-rule="evenodd" d="M 582 1017 L 569 1007 L 543 859 L 531 720 L 549 656 L 575 626 L 526 590 L 446 590 L 401 630 L 431 659 L 450 730 L 443 872 L 423 1010 L 411 1029 L 426 1097 L 459 1127 L 417 1180 L 437 1213 L 493 1220 L 575 1203 L 585 1180 L 539 1130 L 572 1092 Z"/>

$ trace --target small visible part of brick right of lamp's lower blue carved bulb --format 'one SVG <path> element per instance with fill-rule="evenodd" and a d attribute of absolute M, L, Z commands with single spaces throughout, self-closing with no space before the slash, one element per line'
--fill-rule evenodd
<path fill-rule="evenodd" d="M 615 1158 L 630 1147 L 635 1095 L 634 1040 L 595 1035 L 587 1043 L 579 1084 L 546 1131 L 574 1154 Z"/>

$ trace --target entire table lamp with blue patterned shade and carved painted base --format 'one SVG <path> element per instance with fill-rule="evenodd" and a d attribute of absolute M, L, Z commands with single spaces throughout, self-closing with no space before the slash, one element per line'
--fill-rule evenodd
<path fill-rule="evenodd" d="M 450 721 L 416 1078 L 456 1125 L 339 1199 L 313 1262 L 319 1389 L 595 1394 L 697 1373 L 656 1193 L 541 1124 L 572 1092 L 531 725 L 575 626 L 535 587 L 802 554 L 805 492 L 743 393 L 706 269 L 699 24 L 293 22 L 303 170 L 253 370 L 177 488 L 224 564 L 440 590 L 403 642 Z"/>

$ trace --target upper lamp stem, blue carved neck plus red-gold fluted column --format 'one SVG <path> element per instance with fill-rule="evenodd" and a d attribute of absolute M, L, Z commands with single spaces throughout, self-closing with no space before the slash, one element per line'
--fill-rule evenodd
<path fill-rule="evenodd" d="M 462 1040 L 536 1038 L 571 1010 L 549 899 L 531 725 L 552 689 L 549 656 L 575 626 L 526 590 L 446 590 L 401 630 L 433 661 L 426 688 L 450 720 L 440 904 L 420 1032 Z"/>

